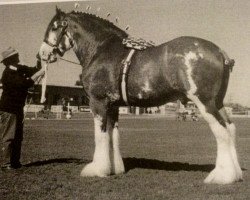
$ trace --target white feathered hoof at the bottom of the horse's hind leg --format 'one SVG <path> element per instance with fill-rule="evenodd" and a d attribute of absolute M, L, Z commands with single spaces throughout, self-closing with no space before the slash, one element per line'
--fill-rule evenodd
<path fill-rule="evenodd" d="M 204 183 L 208 184 L 230 184 L 242 180 L 242 173 L 235 170 L 223 170 L 222 168 L 215 168 Z"/>

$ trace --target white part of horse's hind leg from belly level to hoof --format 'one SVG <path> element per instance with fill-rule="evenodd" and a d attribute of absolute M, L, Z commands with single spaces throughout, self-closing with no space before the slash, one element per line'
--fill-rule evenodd
<path fill-rule="evenodd" d="M 242 173 L 241 170 L 238 169 L 239 163 L 235 146 L 232 143 L 231 134 L 212 114 L 206 111 L 205 106 L 197 96 L 188 95 L 188 98 L 197 105 L 202 116 L 209 123 L 217 142 L 215 169 L 208 175 L 204 182 L 228 184 L 240 180 L 242 178 Z"/>

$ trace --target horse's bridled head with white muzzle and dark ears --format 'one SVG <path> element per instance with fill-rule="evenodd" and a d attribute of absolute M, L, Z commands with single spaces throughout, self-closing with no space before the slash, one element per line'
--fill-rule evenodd
<path fill-rule="evenodd" d="M 39 50 L 39 56 L 43 61 L 55 62 L 57 60 L 57 54 L 63 56 L 64 53 L 72 47 L 73 39 L 68 32 L 66 14 L 56 8 L 56 15 L 48 25 Z"/>

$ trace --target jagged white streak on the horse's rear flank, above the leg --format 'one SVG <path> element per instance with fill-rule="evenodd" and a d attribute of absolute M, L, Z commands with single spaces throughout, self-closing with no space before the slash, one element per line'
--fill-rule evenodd
<path fill-rule="evenodd" d="M 194 94 L 197 90 L 197 86 L 195 85 L 195 82 L 192 78 L 192 60 L 197 60 L 197 56 L 194 52 L 190 51 L 187 54 L 185 54 L 184 56 L 185 59 L 185 65 L 187 66 L 187 78 L 188 78 L 188 82 L 190 85 L 190 89 L 188 91 L 189 94 Z"/>

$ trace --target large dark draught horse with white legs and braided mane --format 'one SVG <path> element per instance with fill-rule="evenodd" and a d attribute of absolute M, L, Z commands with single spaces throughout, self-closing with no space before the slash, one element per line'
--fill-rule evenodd
<path fill-rule="evenodd" d="M 215 168 L 204 182 L 242 180 L 236 127 L 223 105 L 233 59 L 212 42 L 191 36 L 132 54 L 123 44 L 128 37 L 126 31 L 96 15 L 56 8 L 39 49 L 43 65 L 73 49 L 82 66 L 83 88 L 94 118 L 95 150 L 93 161 L 80 175 L 106 177 L 125 172 L 119 148 L 120 106 L 154 107 L 191 100 L 217 142 Z"/>

